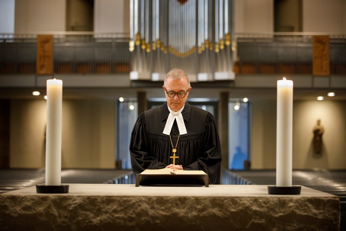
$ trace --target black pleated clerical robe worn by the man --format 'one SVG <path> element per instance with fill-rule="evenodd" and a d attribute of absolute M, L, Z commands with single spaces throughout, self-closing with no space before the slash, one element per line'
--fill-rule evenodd
<path fill-rule="evenodd" d="M 130 141 L 131 165 L 135 174 L 145 169 L 165 168 L 173 163 L 172 143 L 176 146 L 176 165 L 184 170 L 203 170 L 210 184 L 220 183 L 221 146 L 214 117 L 210 112 L 185 103 L 181 112 L 187 134 L 180 135 L 174 120 L 170 136 L 163 134 L 170 111 L 167 102 L 142 112 Z M 179 137 L 179 140 L 178 140 Z M 178 143 L 177 143 L 178 141 Z"/>

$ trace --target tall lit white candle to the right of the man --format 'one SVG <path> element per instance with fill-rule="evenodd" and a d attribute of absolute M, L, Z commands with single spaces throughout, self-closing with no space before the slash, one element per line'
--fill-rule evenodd
<path fill-rule="evenodd" d="M 277 82 L 276 186 L 292 186 L 293 81 Z"/>

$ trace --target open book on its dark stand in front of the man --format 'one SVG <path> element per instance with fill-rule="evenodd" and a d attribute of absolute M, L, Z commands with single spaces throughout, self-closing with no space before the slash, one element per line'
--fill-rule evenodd
<path fill-rule="evenodd" d="M 136 174 L 136 187 L 139 185 L 209 187 L 209 177 L 202 170 L 146 169 Z"/>

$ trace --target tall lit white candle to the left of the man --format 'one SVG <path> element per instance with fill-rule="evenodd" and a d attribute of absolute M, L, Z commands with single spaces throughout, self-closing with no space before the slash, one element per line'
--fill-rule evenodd
<path fill-rule="evenodd" d="M 61 185 L 62 81 L 47 80 L 46 185 Z"/>

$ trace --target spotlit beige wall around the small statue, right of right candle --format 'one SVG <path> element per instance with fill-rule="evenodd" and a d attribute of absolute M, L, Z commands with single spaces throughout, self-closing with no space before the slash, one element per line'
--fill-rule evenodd
<path fill-rule="evenodd" d="M 293 104 L 293 167 L 346 168 L 346 102 L 295 101 Z M 322 153 L 313 152 L 317 119 L 324 126 Z"/>

